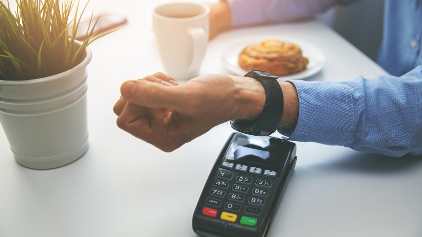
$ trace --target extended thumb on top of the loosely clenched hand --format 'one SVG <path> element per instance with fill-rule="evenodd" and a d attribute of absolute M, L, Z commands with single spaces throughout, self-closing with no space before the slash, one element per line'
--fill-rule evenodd
<path fill-rule="evenodd" d="M 188 97 L 182 86 L 164 86 L 147 80 L 126 81 L 120 91 L 129 102 L 151 109 L 179 110 Z"/>

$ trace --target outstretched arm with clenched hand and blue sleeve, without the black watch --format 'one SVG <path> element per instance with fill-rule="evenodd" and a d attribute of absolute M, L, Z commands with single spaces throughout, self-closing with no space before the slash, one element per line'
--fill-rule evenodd
<path fill-rule="evenodd" d="M 166 152 L 228 120 L 254 120 L 264 107 L 256 79 L 205 75 L 183 85 L 156 83 L 170 79 L 155 74 L 127 81 L 114 107 L 119 127 Z M 290 140 L 395 157 L 422 154 L 422 66 L 400 78 L 279 83 L 280 125 L 294 128 Z"/>

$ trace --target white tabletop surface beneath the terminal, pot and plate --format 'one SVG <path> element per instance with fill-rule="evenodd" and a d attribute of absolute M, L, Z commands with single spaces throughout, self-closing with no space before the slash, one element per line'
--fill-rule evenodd
<path fill-rule="evenodd" d="M 90 148 L 82 158 L 51 170 L 22 167 L 0 129 L 0 237 L 195 236 L 196 202 L 233 130 L 222 124 L 164 153 L 120 130 L 112 111 L 123 81 L 164 70 L 151 25 L 155 4 L 92 0 L 89 5 L 124 14 L 128 24 L 91 46 Z M 251 35 L 294 37 L 320 48 L 327 63 L 310 80 L 385 73 L 331 29 L 309 21 L 226 32 L 210 41 L 200 74 L 229 74 L 220 62 L 222 49 Z M 421 157 L 389 158 L 301 142 L 297 156 L 269 237 L 422 236 Z"/>

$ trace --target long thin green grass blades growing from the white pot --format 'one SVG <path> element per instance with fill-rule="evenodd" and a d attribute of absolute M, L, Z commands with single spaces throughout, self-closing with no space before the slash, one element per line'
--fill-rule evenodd
<path fill-rule="evenodd" d="M 79 0 L 15 0 L 13 13 L 8 0 L 0 1 L 0 80 L 39 79 L 65 72 L 85 57 L 85 48 L 113 31 L 97 34 L 99 17 L 81 45 L 75 35 L 87 4 L 78 14 Z M 72 9 L 75 6 L 75 11 Z"/>

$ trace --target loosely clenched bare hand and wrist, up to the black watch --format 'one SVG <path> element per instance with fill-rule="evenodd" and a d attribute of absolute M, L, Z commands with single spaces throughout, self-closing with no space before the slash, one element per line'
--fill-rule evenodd
<path fill-rule="evenodd" d="M 212 127 L 234 118 L 255 119 L 264 88 L 252 78 L 206 75 L 183 85 L 163 73 L 126 81 L 114 106 L 117 125 L 171 152 Z"/>

